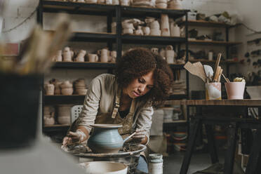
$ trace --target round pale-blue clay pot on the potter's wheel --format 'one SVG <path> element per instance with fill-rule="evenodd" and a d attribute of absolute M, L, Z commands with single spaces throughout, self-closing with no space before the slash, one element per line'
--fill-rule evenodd
<path fill-rule="evenodd" d="M 116 124 L 94 124 L 93 135 L 88 140 L 88 147 L 95 153 L 118 153 L 123 147 L 123 139 L 119 135 Z"/>

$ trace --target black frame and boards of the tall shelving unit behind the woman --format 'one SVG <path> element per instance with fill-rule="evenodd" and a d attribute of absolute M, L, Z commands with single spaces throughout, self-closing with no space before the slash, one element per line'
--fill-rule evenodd
<path fill-rule="evenodd" d="M 140 8 L 133 6 L 112 6 L 101 4 L 86 4 L 71 1 L 50 1 L 40 0 L 37 13 L 37 21 L 43 25 L 43 13 L 60 13 L 65 12 L 69 14 L 78 15 L 104 15 L 107 16 L 107 32 L 75 32 L 70 41 L 79 42 L 103 42 L 107 43 L 109 50 L 112 50 L 113 44 L 116 45 L 114 50 L 117 51 L 117 59 L 121 58 L 121 51 L 123 44 L 147 44 L 147 45 L 173 45 L 180 51 L 180 45 L 187 46 L 187 29 L 185 37 L 171 37 L 171 36 L 135 36 L 135 35 L 121 35 L 121 20 L 123 18 L 144 18 L 151 16 L 160 18 L 161 14 L 168 14 L 170 18 L 180 18 L 185 16 L 187 19 L 187 10 L 170 10 L 160 8 Z M 111 24 L 113 18 L 116 20 L 116 33 L 112 33 Z M 52 32 L 52 31 L 50 31 Z M 187 58 L 188 60 L 188 58 Z M 171 64 L 170 68 L 174 71 L 176 69 L 184 69 L 184 65 Z M 55 62 L 53 69 L 107 69 L 112 73 L 115 68 L 114 63 L 101 62 Z M 186 76 L 188 73 L 186 72 Z M 187 93 L 188 93 L 188 78 L 187 78 Z M 170 99 L 180 100 L 187 98 L 188 95 L 171 95 Z M 84 95 L 44 95 L 43 105 L 60 105 L 60 104 L 75 104 L 82 105 Z M 44 132 L 65 130 L 69 126 L 54 125 L 44 126 Z"/>

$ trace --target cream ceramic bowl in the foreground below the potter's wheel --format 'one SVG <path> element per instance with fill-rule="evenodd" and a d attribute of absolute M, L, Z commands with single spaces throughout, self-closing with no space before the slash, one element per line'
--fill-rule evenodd
<path fill-rule="evenodd" d="M 123 163 L 110 161 L 91 161 L 79 163 L 81 168 L 86 169 L 86 173 L 92 174 L 127 174 L 128 166 Z"/>

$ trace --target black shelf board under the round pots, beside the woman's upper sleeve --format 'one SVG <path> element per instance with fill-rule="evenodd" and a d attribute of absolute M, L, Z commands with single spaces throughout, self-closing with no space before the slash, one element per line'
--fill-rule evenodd
<path fill-rule="evenodd" d="M 84 98 L 85 95 L 44 95 L 44 103 L 45 105 L 83 105 Z"/>

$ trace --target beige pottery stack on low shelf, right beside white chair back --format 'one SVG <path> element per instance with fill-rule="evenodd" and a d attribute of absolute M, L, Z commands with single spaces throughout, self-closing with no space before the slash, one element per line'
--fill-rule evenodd
<path fill-rule="evenodd" d="M 72 105 L 58 105 L 58 123 L 71 123 L 71 107 Z"/>

